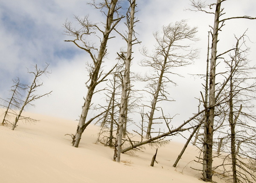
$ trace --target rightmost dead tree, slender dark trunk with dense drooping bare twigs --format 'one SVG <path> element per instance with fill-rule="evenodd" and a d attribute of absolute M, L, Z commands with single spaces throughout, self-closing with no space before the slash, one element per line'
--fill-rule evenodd
<path fill-rule="evenodd" d="M 226 139 L 229 141 L 227 144 L 230 145 L 231 166 L 232 166 L 232 179 L 234 183 L 239 182 L 250 182 L 251 180 L 256 180 L 256 176 L 249 176 L 256 172 L 256 168 L 250 165 L 247 160 L 241 158 L 241 154 L 236 149 L 236 145 L 240 146 L 242 141 L 247 141 L 248 144 L 253 144 L 255 142 L 251 141 L 256 136 L 255 127 L 250 127 L 253 133 L 247 134 L 244 131 L 249 128 L 244 120 L 250 118 L 250 121 L 255 122 L 254 115 L 246 113 L 248 110 L 248 102 L 255 99 L 254 93 L 251 92 L 256 89 L 256 78 L 251 76 L 251 73 L 255 72 L 255 67 L 251 67 L 247 61 L 246 55 L 248 48 L 245 45 L 245 33 L 240 37 L 236 38 L 236 46 L 234 48 L 234 54 L 230 54 L 230 61 L 225 61 L 227 67 L 229 67 L 230 72 L 235 70 L 232 77 L 230 77 L 229 84 L 227 85 L 227 95 L 228 95 L 228 125 L 230 130 L 227 131 Z M 245 47 L 243 49 L 243 46 Z M 250 94 L 251 93 L 251 94 Z M 240 105 L 239 105 L 240 104 Z M 242 110 L 243 106 L 243 111 Z M 254 130 L 253 130 L 254 129 Z M 245 140 L 246 139 L 246 140 Z M 226 147 L 228 146 L 226 144 Z M 246 150 L 246 148 L 244 149 Z M 248 157 L 251 159 L 251 157 Z M 248 165 L 246 165 L 248 163 Z M 246 166 L 245 166 L 246 165 Z M 224 163 L 225 166 L 225 163 Z M 227 171 L 229 173 L 229 171 Z M 246 174 L 246 176 L 244 176 Z"/>

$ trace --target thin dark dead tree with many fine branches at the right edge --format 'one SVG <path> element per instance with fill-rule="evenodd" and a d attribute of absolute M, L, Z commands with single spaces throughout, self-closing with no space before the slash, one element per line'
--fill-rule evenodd
<path fill-rule="evenodd" d="M 230 77 L 222 96 L 228 96 L 228 105 L 224 106 L 227 110 L 222 107 L 224 115 L 228 116 L 227 123 L 220 131 L 221 134 L 224 134 L 224 139 L 227 142 L 224 144 L 224 152 L 227 155 L 223 156 L 222 166 L 225 171 L 222 174 L 232 179 L 234 183 L 256 181 L 256 176 L 254 176 L 256 168 L 250 163 L 254 160 L 250 151 L 255 150 L 256 137 L 256 126 L 250 125 L 256 121 L 255 115 L 250 112 L 250 108 L 253 107 L 250 103 L 256 99 L 254 96 L 256 78 L 255 75 L 252 76 L 256 68 L 250 66 L 246 58 L 249 49 L 245 45 L 245 38 L 245 33 L 236 38 L 234 54 L 230 53 L 230 59 L 225 60 L 229 72 L 231 73 L 233 70 L 235 72 Z M 242 143 L 244 143 L 243 153 L 239 153 L 236 145 L 239 147 Z M 232 171 L 225 168 L 229 165 L 232 167 Z"/>

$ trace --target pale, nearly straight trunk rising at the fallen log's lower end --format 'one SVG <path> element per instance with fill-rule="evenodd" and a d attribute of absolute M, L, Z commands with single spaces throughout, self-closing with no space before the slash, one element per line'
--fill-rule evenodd
<path fill-rule="evenodd" d="M 132 38 L 133 38 L 133 28 L 134 28 L 134 13 L 135 13 L 136 0 L 131 1 L 131 13 L 130 13 L 130 23 L 128 30 L 128 40 L 127 40 L 127 53 L 125 60 L 125 73 L 123 77 L 123 86 L 122 86 L 122 97 L 120 104 L 119 120 L 118 126 L 119 129 L 116 133 L 116 148 L 114 152 L 113 160 L 120 162 L 121 157 L 121 146 L 122 146 L 122 134 L 123 134 L 123 125 L 125 122 L 125 113 L 127 109 L 127 94 L 130 86 L 130 65 L 131 65 L 131 54 L 132 54 Z"/>

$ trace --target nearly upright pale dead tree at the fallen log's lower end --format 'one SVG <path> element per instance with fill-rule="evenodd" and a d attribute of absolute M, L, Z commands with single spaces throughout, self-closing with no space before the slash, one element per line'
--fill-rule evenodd
<path fill-rule="evenodd" d="M 128 2 L 130 3 L 130 7 L 128 8 L 128 12 L 126 14 L 127 22 L 125 23 L 128 27 L 128 34 L 120 34 L 127 43 L 127 52 L 126 55 L 120 55 L 125 60 L 125 72 L 122 80 L 122 96 L 120 102 L 118 128 L 116 132 L 116 145 L 113 156 L 113 160 L 116 162 L 120 162 L 123 125 L 125 123 L 125 116 L 128 107 L 128 90 L 130 90 L 130 65 L 132 60 L 132 46 L 138 43 L 137 38 L 134 38 L 134 23 L 138 21 L 134 20 L 136 0 L 128 0 Z"/>

